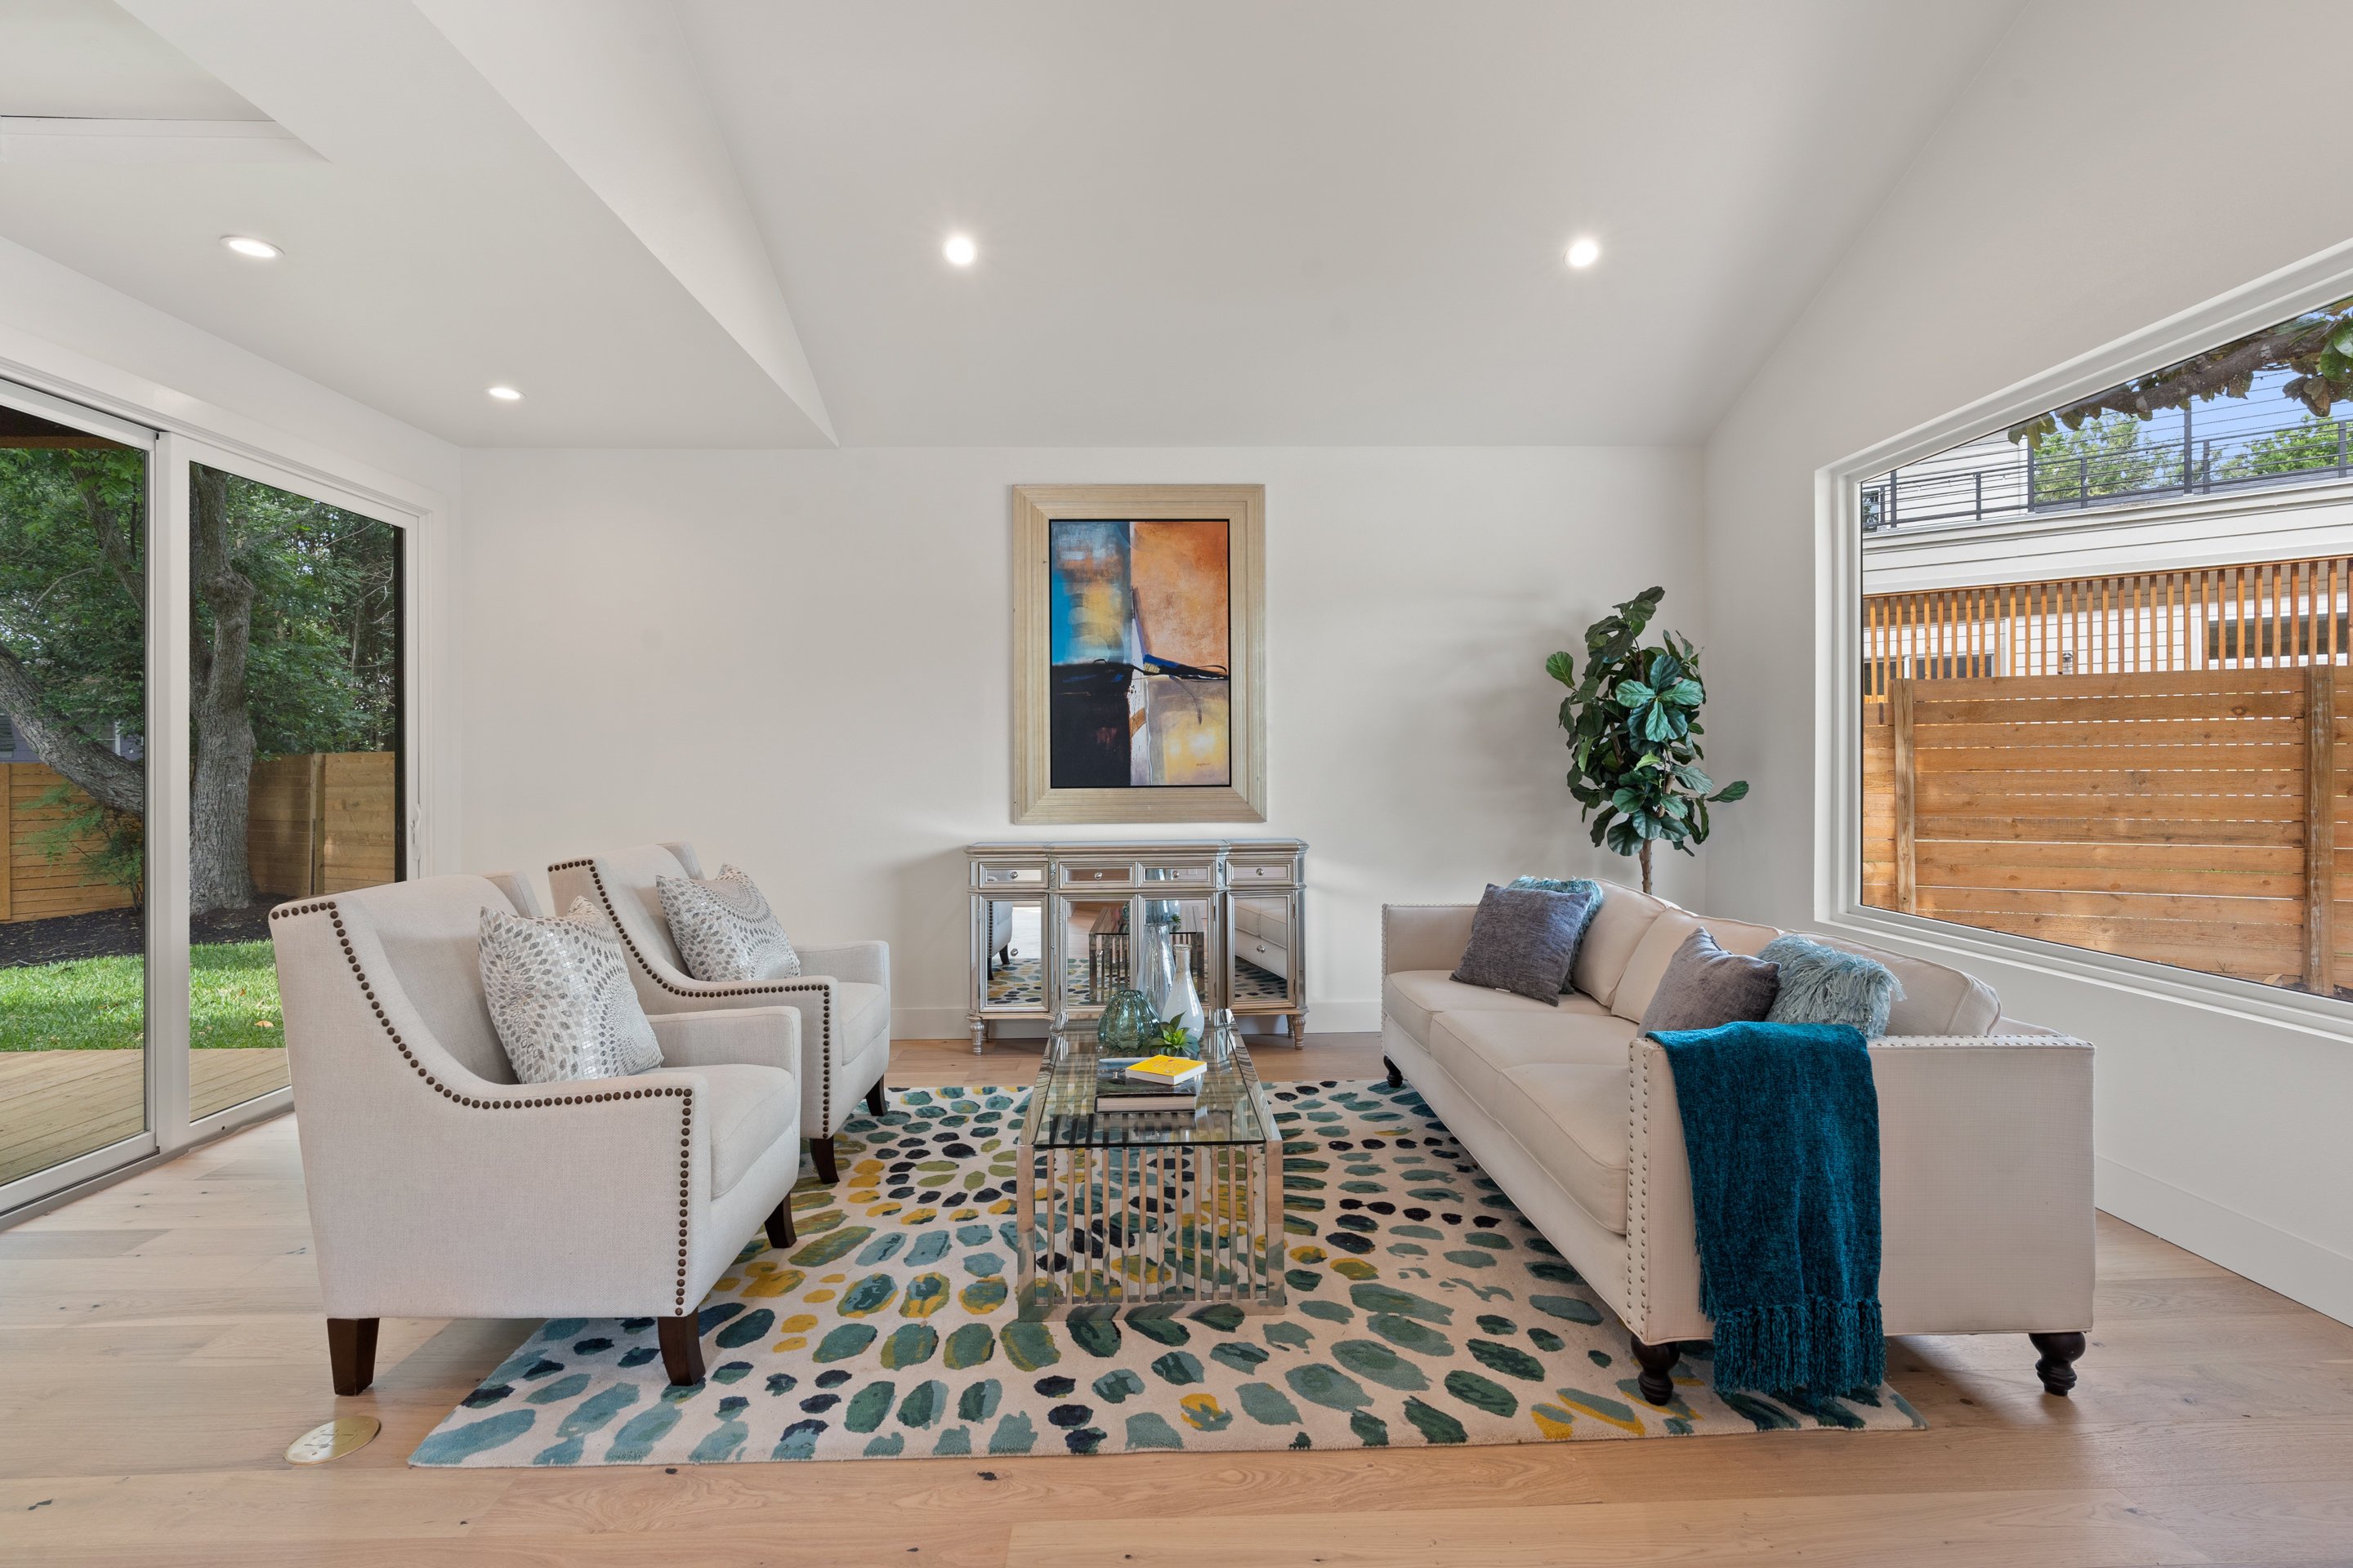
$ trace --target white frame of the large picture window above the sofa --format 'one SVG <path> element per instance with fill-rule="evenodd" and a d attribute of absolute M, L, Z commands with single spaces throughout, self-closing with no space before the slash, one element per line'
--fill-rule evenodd
<path fill-rule="evenodd" d="M 1922 947 L 1953 961 L 1998 959 L 2158 1001 L 2181 1001 L 2353 1041 L 2353 1001 L 2033 936 L 1979 931 L 1927 914 L 1878 910 L 1861 900 L 1861 482 L 2346 294 L 2353 294 L 2353 242 L 2191 306 L 1814 470 L 1814 919 L 1821 926 L 1861 940 Z M 2285 489 L 2280 501 L 2294 505 L 2304 496 L 2311 496 L 2311 489 L 2294 487 Z"/>

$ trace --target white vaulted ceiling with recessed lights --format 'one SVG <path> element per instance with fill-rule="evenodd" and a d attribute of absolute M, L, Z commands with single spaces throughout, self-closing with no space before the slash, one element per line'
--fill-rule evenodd
<path fill-rule="evenodd" d="M 2014 12 L 19 0 L 0 118 L 308 153 L 0 237 L 461 444 L 1697 442 Z"/>

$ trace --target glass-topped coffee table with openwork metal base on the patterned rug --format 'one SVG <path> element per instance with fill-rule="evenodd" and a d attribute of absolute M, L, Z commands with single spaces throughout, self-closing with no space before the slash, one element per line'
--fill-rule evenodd
<path fill-rule="evenodd" d="M 1231 1023 L 1188 1112 L 1099 1112 L 1094 1034 L 1056 1030 L 1016 1150 L 1024 1321 L 1278 1312 L 1282 1133 Z"/>

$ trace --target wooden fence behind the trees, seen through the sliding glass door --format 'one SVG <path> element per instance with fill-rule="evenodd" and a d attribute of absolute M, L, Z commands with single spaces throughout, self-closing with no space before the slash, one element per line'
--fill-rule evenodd
<path fill-rule="evenodd" d="M 311 898 L 398 875 L 395 752 L 320 752 L 256 762 L 245 853 L 254 889 Z M 120 910 L 132 891 L 92 879 L 80 856 L 52 860 L 42 839 L 66 806 L 40 804 L 64 776 L 5 762 L 0 783 L 0 922 Z M 71 790 L 71 785 L 68 785 Z M 75 792 L 78 795 L 78 792 Z M 78 849 L 92 849 L 80 844 Z"/>

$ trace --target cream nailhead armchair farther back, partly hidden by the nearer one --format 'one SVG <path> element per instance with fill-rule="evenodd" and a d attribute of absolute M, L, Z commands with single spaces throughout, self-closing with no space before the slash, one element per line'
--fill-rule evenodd
<path fill-rule="evenodd" d="M 621 945 L 628 976 L 652 1016 L 689 1009 L 791 1006 L 800 1011 L 807 1072 L 800 1079 L 800 1126 L 809 1159 L 824 1182 L 838 1178 L 833 1135 L 852 1117 L 859 1098 L 882 1114 L 882 1074 L 889 1070 L 889 945 L 840 943 L 805 947 L 800 976 L 791 980 L 696 980 L 687 973 L 661 914 L 654 877 L 701 877 L 692 844 L 640 844 L 607 856 L 560 860 L 548 867 L 555 905 L 574 898 L 605 910 Z"/>

